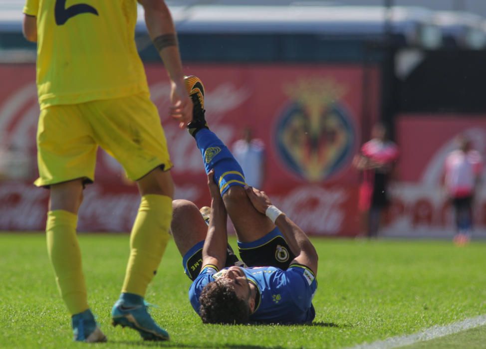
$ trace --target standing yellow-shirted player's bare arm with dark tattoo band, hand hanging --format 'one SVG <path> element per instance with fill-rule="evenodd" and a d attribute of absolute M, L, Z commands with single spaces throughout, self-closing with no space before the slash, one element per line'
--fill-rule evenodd
<path fill-rule="evenodd" d="M 171 12 L 164 0 L 138 0 L 145 24 L 171 79 L 171 116 L 185 127 L 192 120 L 193 104 L 184 85 L 181 56 Z"/>

